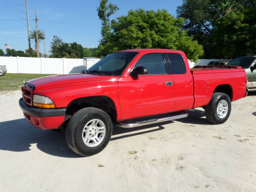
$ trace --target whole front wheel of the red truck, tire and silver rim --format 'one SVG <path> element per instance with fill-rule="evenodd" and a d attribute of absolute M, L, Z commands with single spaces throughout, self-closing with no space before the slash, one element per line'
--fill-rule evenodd
<path fill-rule="evenodd" d="M 93 107 L 76 112 L 66 128 L 69 148 L 81 156 L 102 151 L 110 141 L 112 122 L 106 112 Z"/>

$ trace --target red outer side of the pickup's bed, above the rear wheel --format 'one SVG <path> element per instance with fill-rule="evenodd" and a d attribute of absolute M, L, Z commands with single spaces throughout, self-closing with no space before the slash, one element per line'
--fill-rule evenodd
<path fill-rule="evenodd" d="M 193 108 L 207 105 L 220 84 L 230 88 L 232 101 L 244 97 L 246 73 L 242 68 L 191 68 L 190 72 L 194 80 Z"/>

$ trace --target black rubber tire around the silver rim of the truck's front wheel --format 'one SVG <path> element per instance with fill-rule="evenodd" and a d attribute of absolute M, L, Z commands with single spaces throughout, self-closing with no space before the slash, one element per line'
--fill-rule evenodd
<path fill-rule="evenodd" d="M 93 119 L 101 120 L 106 129 L 104 139 L 98 146 L 87 146 L 82 139 L 82 132 L 86 123 Z M 83 108 L 76 112 L 66 128 L 66 142 L 69 148 L 81 156 L 92 156 L 102 151 L 110 141 L 112 135 L 112 122 L 106 112 L 93 107 Z"/>

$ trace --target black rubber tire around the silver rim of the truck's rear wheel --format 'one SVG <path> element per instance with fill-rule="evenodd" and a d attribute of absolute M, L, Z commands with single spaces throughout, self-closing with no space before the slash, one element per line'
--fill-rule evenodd
<path fill-rule="evenodd" d="M 228 112 L 224 118 L 220 118 L 217 114 L 217 106 L 220 101 L 225 100 L 228 104 Z M 231 100 L 225 93 L 214 93 L 208 105 L 205 106 L 206 119 L 214 124 L 222 124 L 228 120 L 231 112 Z"/>

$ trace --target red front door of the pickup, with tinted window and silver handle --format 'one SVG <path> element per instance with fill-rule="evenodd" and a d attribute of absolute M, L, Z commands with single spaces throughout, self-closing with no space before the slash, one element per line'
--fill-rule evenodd
<path fill-rule="evenodd" d="M 132 60 L 118 81 L 122 120 L 174 110 L 174 79 L 168 65 L 168 57 L 158 51 L 140 52 Z M 138 66 L 146 67 L 148 74 L 130 76 Z"/>

